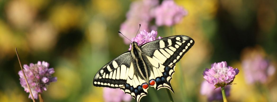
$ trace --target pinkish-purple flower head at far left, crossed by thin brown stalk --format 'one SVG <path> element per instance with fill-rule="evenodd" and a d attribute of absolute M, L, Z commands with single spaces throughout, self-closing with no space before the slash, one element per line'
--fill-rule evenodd
<path fill-rule="evenodd" d="M 43 91 L 47 90 L 47 86 L 50 84 L 50 82 L 57 81 L 57 77 L 52 77 L 52 74 L 55 72 L 54 68 L 48 69 L 49 63 L 47 62 L 38 61 L 37 64 L 30 63 L 30 66 L 25 64 L 23 67 L 27 81 L 35 99 L 38 98 L 38 93 L 42 93 Z M 18 74 L 20 77 L 19 80 L 21 86 L 28 93 L 29 89 L 24 79 L 22 70 L 20 70 Z M 29 95 L 29 98 L 31 98 L 31 95 Z"/>

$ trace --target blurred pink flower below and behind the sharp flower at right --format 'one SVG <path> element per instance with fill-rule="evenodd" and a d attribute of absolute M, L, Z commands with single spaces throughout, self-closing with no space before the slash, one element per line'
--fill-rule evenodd
<path fill-rule="evenodd" d="M 225 95 L 230 96 L 230 85 L 225 86 Z M 222 92 L 220 88 L 216 88 L 214 85 L 208 83 L 207 81 L 203 81 L 201 84 L 200 94 L 206 95 L 208 97 L 208 101 L 214 100 L 222 100 Z"/>

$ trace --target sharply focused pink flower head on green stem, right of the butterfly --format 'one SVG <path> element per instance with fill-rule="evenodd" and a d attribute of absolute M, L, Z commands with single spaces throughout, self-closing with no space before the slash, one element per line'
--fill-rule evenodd
<path fill-rule="evenodd" d="M 212 64 L 211 69 L 206 68 L 203 75 L 208 83 L 222 87 L 231 84 L 238 72 L 238 68 L 227 67 L 227 62 L 220 62 Z"/>

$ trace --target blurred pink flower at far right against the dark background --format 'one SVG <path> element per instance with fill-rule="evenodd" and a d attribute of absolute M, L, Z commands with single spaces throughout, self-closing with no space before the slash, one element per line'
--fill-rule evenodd
<path fill-rule="evenodd" d="M 248 84 L 254 82 L 265 83 L 268 76 L 275 73 L 275 67 L 259 53 L 245 58 L 242 61 L 242 68 Z"/>

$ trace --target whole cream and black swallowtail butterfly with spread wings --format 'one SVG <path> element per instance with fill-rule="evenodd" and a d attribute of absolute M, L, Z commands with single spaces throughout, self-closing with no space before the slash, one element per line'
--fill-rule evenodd
<path fill-rule="evenodd" d="M 137 102 L 147 95 L 149 86 L 156 90 L 168 88 L 175 64 L 194 45 L 185 35 L 175 35 L 138 45 L 104 65 L 95 75 L 93 85 L 120 88 Z"/>

